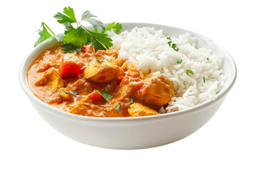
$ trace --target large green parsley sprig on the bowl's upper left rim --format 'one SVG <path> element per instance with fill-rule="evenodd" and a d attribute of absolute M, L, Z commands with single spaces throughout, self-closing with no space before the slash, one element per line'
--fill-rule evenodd
<path fill-rule="evenodd" d="M 82 13 L 81 21 L 77 21 L 73 8 L 63 8 L 63 13 L 56 13 L 54 18 L 57 19 L 58 23 L 65 26 L 65 32 L 62 34 L 55 35 L 53 31 L 42 23 L 41 30 L 39 30 L 40 38 L 36 41 L 36 45 L 40 44 L 47 38 L 53 37 L 55 40 L 64 42 L 62 47 L 63 52 L 80 52 L 82 45 L 92 43 L 97 50 L 105 50 L 112 47 L 112 39 L 105 33 L 106 30 L 113 29 L 114 32 L 119 33 L 122 30 L 120 23 L 110 23 L 106 28 L 103 23 L 96 19 L 97 16 L 92 15 L 90 11 Z M 82 25 L 82 21 L 90 23 L 94 30 L 88 30 Z M 72 23 L 77 24 L 77 28 L 74 28 Z M 50 33 L 48 32 L 50 30 Z"/>

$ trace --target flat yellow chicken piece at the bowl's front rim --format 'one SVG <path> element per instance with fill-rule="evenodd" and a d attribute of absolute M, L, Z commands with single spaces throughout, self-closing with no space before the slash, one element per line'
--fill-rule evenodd
<path fill-rule="evenodd" d="M 133 103 L 130 105 L 130 108 L 128 109 L 129 114 L 132 117 L 137 116 L 144 116 L 144 115 L 159 115 L 160 113 L 157 113 L 156 111 L 152 110 L 151 108 L 148 108 L 141 103 Z"/>

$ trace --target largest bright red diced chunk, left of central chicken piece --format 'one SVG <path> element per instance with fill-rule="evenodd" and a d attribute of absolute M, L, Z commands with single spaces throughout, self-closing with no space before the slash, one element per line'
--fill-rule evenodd
<path fill-rule="evenodd" d="M 74 61 L 70 62 L 70 58 L 63 57 L 60 63 L 58 72 L 60 77 L 78 77 L 81 67 L 75 64 Z"/>

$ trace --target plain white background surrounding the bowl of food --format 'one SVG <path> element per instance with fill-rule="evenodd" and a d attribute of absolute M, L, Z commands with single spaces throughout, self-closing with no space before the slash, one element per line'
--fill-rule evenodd
<path fill-rule="evenodd" d="M 256 169 L 256 10 L 253 1 L 6 1 L 0 26 L 0 169 Z M 33 50 L 44 21 L 71 6 L 104 23 L 176 26 L 219 42 L 233 56 L 238 79 L 218 113 L 183 140 L 150 149 L 117 150 L 64 137 L 36 113 L 18 83 L 18 67 Z"/>

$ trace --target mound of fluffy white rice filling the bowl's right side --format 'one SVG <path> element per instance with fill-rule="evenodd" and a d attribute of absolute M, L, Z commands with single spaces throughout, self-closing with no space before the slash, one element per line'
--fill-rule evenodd
<path fill-rule="evenodd" d="M 110 30 L 107 34 L 113 40 L 113 48 L 119 50 L 119 57 L 129 60 L 144 74 L 149 74 L 150 69 L 173 81 L 175 95 L 160 113 L 180 111 L 209 99 L 215 100 L 216 94 L 223 89 L 226 79 L 223 58 L 213 55 L 205 47 L 197 48 L 196 38 L 189 33 L 171 37 L 178 52 L 169 47 L 169 40 L 162 30 L 155 28 L 135 27 L 119 35 Z M 181 64 L 177 60 L 182 60 Z M 193 74 L 187 74 L 187 70 Z"/>

